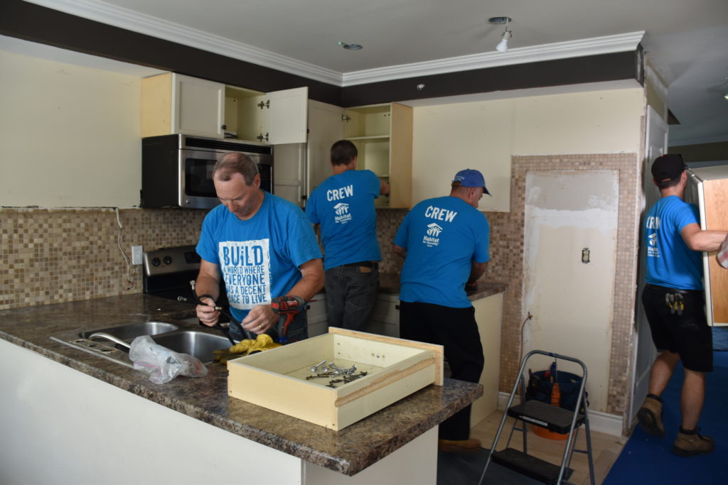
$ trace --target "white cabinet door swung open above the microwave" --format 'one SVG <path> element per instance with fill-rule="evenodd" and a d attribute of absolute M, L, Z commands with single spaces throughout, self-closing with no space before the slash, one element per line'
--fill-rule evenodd
<path fill-rule="evenodd" d="M 266 93 L 266 126 L 270 145 L 306 143 L 308 87 Z"/>

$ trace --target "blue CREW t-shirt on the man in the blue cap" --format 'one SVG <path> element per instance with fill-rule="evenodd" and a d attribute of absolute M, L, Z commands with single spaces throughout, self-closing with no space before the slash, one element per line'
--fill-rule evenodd
<path fill-rule="evenodd" d="M 395 244 L 407 249 L 400 300 L 471 307 L 465 283 L 472 262 L 490 259 L 489 242 L 486 216 L 462 199 L 445 196 L 420 202 L 395 236 Z"/>

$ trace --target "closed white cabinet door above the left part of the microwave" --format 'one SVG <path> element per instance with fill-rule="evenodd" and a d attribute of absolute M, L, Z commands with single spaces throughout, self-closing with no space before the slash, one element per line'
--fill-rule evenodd
<path fill-rule="evenodd" d="M 175 133 L 213 138 L 224 136 L 224 84 L 175 73 L 172 89 Z"/>

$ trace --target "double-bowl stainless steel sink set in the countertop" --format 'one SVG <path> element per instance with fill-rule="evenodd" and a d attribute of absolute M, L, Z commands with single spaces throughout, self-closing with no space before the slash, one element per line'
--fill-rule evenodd
<path fill-rule="evenodd" d="M 110 326 L 84 332 L 66 332 L 53 335 L 50 338 L 78 350 L 106 358 L 109 361 L 116 362 L 116 364 L 133 368 L 134 364 L 129 358 L 129 348 L 127 346 L 93 334 L 108 334 L 127 344 L 130 344 L 135 337 L 150 335 L 159 345 L 175 352 L 189 353 L 189 355 L 195 356 L 203 362 L 213 360 L 213 350 L 230 346 L 230 341 L 222 335 L 180 329 L 175 324 L 162 321 L 145 321 L 138 324 Z M 91 338 L 92 336 L 93 338 Z"/>

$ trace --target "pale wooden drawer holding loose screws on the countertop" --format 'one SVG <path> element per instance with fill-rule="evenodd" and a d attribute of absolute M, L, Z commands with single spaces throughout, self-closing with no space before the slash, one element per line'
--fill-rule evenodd
<path fill-rule="evenodd" d="M 311 367 L 326 360 L 357 366 L 363 377 L 328 386 Z M 228 394 L 333 430 L 409 396 L 443 384 L 443 348 L 412 340 L 331 327 L 327 334 L 228 361 Z"/>

